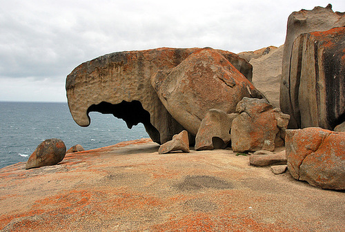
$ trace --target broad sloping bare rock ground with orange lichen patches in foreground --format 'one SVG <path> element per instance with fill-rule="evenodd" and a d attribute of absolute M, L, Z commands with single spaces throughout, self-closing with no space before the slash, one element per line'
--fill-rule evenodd
<path fill-rule="evenodd" d="M 345 193 L 150 139 L 0 169 L 1 231 L 344 231 Z"/>

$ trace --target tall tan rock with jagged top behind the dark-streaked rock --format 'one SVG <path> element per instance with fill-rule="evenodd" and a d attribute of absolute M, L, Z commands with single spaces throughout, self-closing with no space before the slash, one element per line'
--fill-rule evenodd
<path fill-rule="evenodd" d="M 345 26 L 345 14 L 333 12 L 330 4 L 326 8 L 315 7 L 313 10 L 293 12 L 288 17 L 284 43 L 282 80 L 280 84 L 280 107 L 283 113 L 291 116 L 289 128 L 301 127 L 299 120 L 299 101 L 297 100 L 299 95 L 299 79 L 296 79 L 295 73 L 292 72 L 293 68 L 298 68 L 294 67 L 295 64 L 291 64 L 293 62 L 293 43 L 295 39 L 306 32 L 326 31 L 342 26 Z M 317 45 L 315 48 L 317 48 Z M 304 47 L 305 49 L 306 47 Z M 305 50 L 304 52 L 307 51 Z M 310 50 L 310 52 L 313 52 L 313 50 Z M 322 53 L 318 52 L 317 54 L 319 54 L 317 59 L 320 59 L 319 62 L 321 63 Z M 314 59 L 311 59 L 310 62 L 312 61 L 314 62 Z M 320 63 L 319 65 L 322 65 Z M 313 73 L 313 70 L 310 71 Z M 308 70 L 306 70 L 306 73 L 308 73 Z M 327 79 L 331 80 L 331 78 L 332 76 Z"/>

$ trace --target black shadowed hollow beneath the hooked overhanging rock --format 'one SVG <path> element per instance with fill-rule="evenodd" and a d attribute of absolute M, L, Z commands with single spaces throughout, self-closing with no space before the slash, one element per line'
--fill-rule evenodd
<path fill-rule="evenodd" d="M 100 104 L 93 104 L 90 106 L 88 108 L 88 113 L 90 112 L 112 114 L 114 117 L 123 119 L 128 128 L 142 123 L 152 141 L 160 144 L 159 131 L 151 124 L 150 113 L 143 108 L 140 101 L 121 101 L 119 104 L 111 104 L 102 101 Z"/>

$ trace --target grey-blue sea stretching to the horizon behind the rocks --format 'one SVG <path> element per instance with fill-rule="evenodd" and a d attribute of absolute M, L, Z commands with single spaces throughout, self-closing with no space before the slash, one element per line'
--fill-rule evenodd
<path fill-rule="evenodd" d="M 144 125 L 128 129 L 122 119 L 91 112 L 91 124 L 81 127 L 70 115 L 67 103 L 0 101 L 0 168 L 26 162 L 45 139 L 58 138 L 70 148 L 85 150 L 148 137 Z"/>

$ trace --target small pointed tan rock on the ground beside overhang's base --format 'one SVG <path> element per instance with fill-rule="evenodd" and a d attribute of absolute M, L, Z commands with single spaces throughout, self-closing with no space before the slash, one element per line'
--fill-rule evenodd
<path fill-rule="evenodd" d="M 189 153 L 188 132 L 181 131 L 178 135 L 174 135 L 171 141 L 161 144 L 158 149 L 159 154 L 170 153 L 171 151 L 182 151 Z"/>

